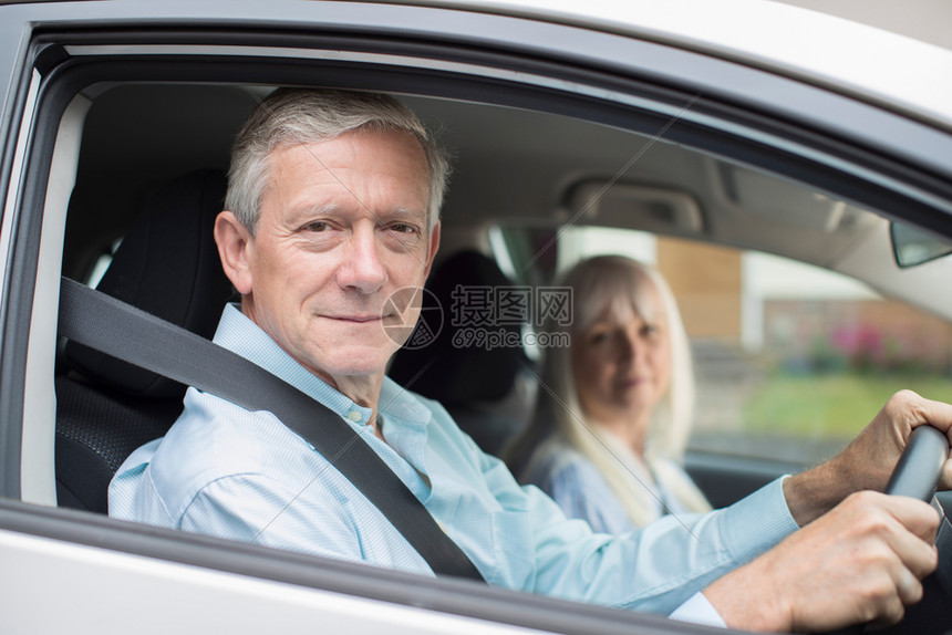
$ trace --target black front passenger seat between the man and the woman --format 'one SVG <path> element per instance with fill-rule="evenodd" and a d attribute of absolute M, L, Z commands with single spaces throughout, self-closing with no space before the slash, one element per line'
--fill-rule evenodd
<path fill-rule="evenodd" d="M 438 264 L 430 277 L 423 298 L 417 330 L 430 326 L 432 341 L 423 345 L 414 332 L 407 344 L 394 356 L 389 375 L 397 384 L 425 397 L 436 399 L 456 424 L 473 437 L 486 452 L 499 455 L 506 443 L 526 424 L 534 399 L 526 394 L 521 379 L 532 363 L 521 345 L 485 346 L 478 342 L 459 341 L 466 327 L 461 318 L 457 287 L 497 289 L 514 287 L 496 262 L 475 251 L 458 251 Z M 462 306 L 462 309 L 466 309 Z M 426 320 L 438 312 L 439 329 Z M 521 343 L 519 324 L 480 324 L 487 330 L 501 330 Z"/>

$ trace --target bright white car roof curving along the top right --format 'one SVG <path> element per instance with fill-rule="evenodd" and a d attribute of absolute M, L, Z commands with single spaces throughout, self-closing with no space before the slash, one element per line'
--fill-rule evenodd
<path fill-rule="evenodd" d="M 952 129 L 952 51 L 764 0 L 441 0 L 401 2 L 513 14 L 615 32 L 725 60 Z M 756 28 L 753 28 L 756 25 Z"/>

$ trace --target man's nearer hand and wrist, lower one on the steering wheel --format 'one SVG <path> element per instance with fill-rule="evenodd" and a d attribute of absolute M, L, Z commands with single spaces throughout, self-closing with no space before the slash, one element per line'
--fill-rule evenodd
<path fill-rule="evenodd" d="M 865 491 L 704 591 L 728 626 L 830 631 L 900 620 L 937 565 L 939 514 Z"/>

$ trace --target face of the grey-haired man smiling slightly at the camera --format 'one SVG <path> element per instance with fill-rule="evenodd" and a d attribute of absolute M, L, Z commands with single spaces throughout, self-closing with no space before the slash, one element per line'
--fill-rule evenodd
<path fill-rule="evenodd" d="M 334 385 L 345 375 L 382 376 L 402 343 L 394 332 L 408 335 L 399 327 L 420 315 L 416 302 L 387 300 L 423 287 L 439 240 L 438 225 L 427 232 L 420 143 L 359 131 L 276 150 L 271 167 L 245 269 L 229 274 L 242 311 Z"/>

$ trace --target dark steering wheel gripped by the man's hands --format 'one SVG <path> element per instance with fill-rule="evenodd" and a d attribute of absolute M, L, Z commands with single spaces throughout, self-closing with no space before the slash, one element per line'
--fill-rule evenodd
<path fill-rule="evenodd" d="M 886 493 L 931 502 L 942 514 L 935 545 L 939 566 L 923 581 L 922 601 L 906 610 L 906 617 L 880 633 L 941 634 L 952 628 L 952 524 L 935 499 L 935 487 L 949 455 L 949 440 L 932 426 L 912 430 L 906 450 L 886 486 Z"/>

